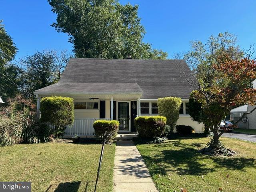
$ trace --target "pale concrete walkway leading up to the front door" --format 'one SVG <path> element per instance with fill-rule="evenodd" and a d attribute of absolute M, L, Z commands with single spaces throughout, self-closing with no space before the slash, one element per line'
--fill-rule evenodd
<path fill-rule="evenodd" d="M 116 142 L 114 192 L 158 192 L 132 141 Z"/>

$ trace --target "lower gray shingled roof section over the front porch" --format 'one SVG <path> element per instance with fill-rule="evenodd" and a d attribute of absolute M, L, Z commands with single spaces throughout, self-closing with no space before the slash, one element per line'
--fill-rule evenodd
<path fill-rule="evenodd" d="M 69 94 L 107 94 L 107 93 L 134 93 L 142 94 L 137 83 L 81 83 L 58 82 L 36 90 L 35 94 L 69 93 Z"/>

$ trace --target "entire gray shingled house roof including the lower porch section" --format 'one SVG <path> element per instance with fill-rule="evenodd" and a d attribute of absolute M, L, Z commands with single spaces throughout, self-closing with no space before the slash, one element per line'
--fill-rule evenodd
<path fill-rule="evenodd" d="M 141 92 L 141 98 L 189 98 L 193 88 L 180 73 L 184 60 L 72 58 L 58 84 L 36 92 Z"/>

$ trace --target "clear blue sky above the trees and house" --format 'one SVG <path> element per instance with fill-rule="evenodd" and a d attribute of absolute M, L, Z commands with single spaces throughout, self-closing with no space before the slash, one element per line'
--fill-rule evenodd
<path fill-rule="evenodd" d="M 231 32 L 242 48 L 256 43 L 256 0 L 121 0 L 138 4 L 145 42 L 168 52 L 187 51 L 191 40 Z M 56 15 L 47 0 L 0 0 L 0 19 L 16 43 L 16 58 L 44 49 L 72 50 L 68 36 L 50 26 Z"/>

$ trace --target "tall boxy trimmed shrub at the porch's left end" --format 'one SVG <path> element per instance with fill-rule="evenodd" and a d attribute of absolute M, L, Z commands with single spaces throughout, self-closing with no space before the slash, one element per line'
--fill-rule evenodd
<path fill-rule="evenodd" d="M 40 112 L 40 121 L 54 126 L 56 137 L 62 136 L 66 126 L 74 122 L 74 101 L 69 97 L 44 97 L 41 99 Z"/>

